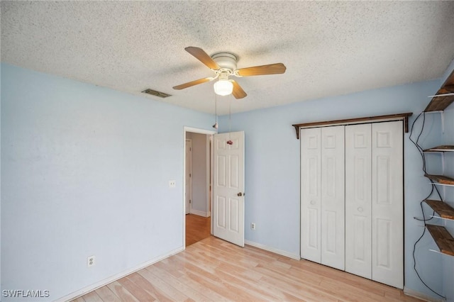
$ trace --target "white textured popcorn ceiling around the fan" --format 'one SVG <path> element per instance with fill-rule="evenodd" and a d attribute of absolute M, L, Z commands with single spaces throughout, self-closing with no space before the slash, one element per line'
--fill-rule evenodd
<path fill-rule="evenodd" d="M 238 55 L 233 113 L 441 77 L 454 58 L 454 1 L 1 1 L 1 61 L 214 113 L 211 77 L 184 47 Z M 172 94 L 141 94 L 146 88 Z"/>

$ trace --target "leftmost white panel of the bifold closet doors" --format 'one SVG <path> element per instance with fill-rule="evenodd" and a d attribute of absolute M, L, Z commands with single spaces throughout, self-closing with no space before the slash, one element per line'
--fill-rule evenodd
<path fill-rule="evenodd" d="M 320 128 L 301 129 L 301 258 L 321 262 Z"/>

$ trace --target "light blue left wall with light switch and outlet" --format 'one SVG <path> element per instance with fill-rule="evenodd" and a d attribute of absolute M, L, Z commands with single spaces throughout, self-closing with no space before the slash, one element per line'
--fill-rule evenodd
<path fill-rule="evenodd" d="M 10 65 L 1 88 L 2 290 L 54 300 L 183 247 L 184 126 L 213 116 Z"/>

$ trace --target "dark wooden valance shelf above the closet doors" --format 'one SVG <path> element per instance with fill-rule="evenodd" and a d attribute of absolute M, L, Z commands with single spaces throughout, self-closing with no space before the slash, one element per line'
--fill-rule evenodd
<path fill-rule="evenodd" d="M 345 120 L 337 121 L 321 121 L 321 122 L 311 122 L 311 123 L 299 123 L 294 124 L 295 130 L 297 131 L 297 139 L 299 140 L 299 129 L 300 128 L 311 128 L 311 127 L 321 127 L 323 125 L 353 125 L 360 123 L 371 123 L 371 122 L 380 122 L 380 121 L 402 121 L 404 120 L 404 130 L 405 133 L 409 132 L 409 116 L 412 116 L 413 113 L 398 113 L 398 114 L 389 114 L 387 116 L 369 116 L 367 118 L 348 118 Z"/>

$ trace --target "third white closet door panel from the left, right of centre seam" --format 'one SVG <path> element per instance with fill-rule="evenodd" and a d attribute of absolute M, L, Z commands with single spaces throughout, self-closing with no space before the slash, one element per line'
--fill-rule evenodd
<path fill-rule="evenodd" d="M 371 124 L 345 126 L 345 271 L 372 279 Z"/>

